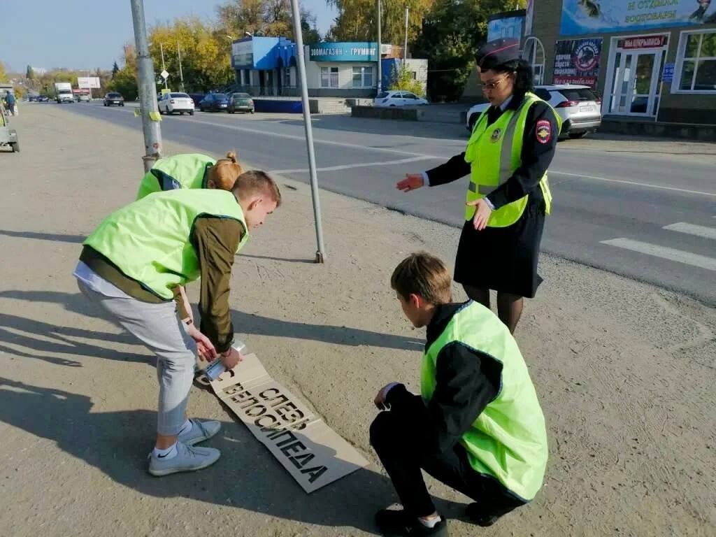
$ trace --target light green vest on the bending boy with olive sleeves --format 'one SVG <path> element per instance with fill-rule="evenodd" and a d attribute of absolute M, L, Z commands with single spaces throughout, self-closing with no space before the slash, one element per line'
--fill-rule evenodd
<path fill-rule="evenodd" d="M 243 211 L 233 193 L 181 189 L 155 193 L 115 211 L 84 244 L 102 253 L 148 291 L 171 300 L 172 289 L 200 276 L 193 246 L 198 216 L 233 218 L 244 229 L 237 251 L 248 241 Z"/>

